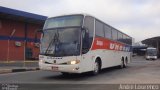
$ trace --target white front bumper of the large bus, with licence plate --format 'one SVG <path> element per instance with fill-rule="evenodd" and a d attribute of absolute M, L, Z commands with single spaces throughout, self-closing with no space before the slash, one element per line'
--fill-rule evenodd
<path fill-rule="evenodd" d="M 39 62 L 40 70 L 48 70 L 53 72 L 81 73 L 78 64 L 74 65 L 54 65 Z"/>

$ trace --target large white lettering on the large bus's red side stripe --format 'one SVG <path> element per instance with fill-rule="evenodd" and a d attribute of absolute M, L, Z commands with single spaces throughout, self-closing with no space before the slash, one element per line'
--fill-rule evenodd
<path fill-rule="evenodd" d="M 116 43 L 110 43 L 109 48 L 111 50 L 119 50 L 119 51 L 129 51 L 129 49 L 130 49 L 129 47 L 125 47 L 123 45 L 118 45 Z"/>

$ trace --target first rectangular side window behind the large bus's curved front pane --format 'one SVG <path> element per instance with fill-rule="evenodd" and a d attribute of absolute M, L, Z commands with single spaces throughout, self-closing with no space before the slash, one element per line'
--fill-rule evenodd
<path fill-rule="evenodd" d="M 96 36 L 104 37 L 103 23 L 96 20 Z"/>

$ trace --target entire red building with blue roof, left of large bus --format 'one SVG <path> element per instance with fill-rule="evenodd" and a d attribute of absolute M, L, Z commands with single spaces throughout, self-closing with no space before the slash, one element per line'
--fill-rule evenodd
<path fill-rule="evenodd" d="M 46 18 L 0 7 L 0 61 L 38 58 L 39 39 L 35 39 L 35 32 L 42 29 Z"/>

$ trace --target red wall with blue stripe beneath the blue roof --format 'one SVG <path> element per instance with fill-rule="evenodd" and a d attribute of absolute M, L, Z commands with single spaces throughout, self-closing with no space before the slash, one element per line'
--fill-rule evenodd
<path fill-rule="evenodd" d="M 0 19 L 0 60 L 7 60 L 7 58 L 9 60 L 23 60 L 24 46 L 32 49 L 32 58 L 37 58 L 39 48 L 34 45 L 34 32 L 40 28 L 42 28 L 42 25 Z M 15 31 L 14 34 L 13 31 Z M 38 37 L 40 37 L 40 35 Z M 24 43 L 25 40 L 26 45 Z M 15 42 L 21 43 L 21 46 L 16 46 Z"/>

